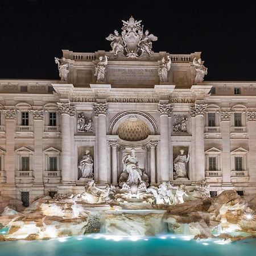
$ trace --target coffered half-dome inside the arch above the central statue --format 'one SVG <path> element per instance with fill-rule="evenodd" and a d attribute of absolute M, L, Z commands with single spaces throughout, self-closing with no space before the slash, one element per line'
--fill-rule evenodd
<path fill-rule="evenodd" d="M 137 116 L 131 116 L 119 125 L 117 134 L 125 141 L 142 141 L 151 133 L 145 122 Z"/>

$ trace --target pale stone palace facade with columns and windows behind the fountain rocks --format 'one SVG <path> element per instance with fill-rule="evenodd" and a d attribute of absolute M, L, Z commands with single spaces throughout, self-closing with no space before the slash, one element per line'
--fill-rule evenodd
<path fill-rule="evenodd" d="M 63 50 L 61 80 L 0 80 L 2 195 L 28 205 L 90 179 L 118 185 L 132 148 L 150 184 L 256 193 L 256 82 L 203 81 L 200 52 L 154 53 L 157 38 L 126 23 L 110 52 Z"/>

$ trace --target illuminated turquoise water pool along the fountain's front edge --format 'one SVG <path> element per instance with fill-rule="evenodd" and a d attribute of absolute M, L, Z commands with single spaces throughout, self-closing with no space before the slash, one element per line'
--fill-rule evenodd
<path fill-rule="evenodd" d="M 89 235 L 38 241 L 0 242 L 1 256 L 221 256 L 254 255 L 256 240 L 191 240 L 189 236 Z"/>

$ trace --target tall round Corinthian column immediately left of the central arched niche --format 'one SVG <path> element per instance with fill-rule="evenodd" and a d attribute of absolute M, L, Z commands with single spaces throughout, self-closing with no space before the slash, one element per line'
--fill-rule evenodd
<path fill-rule="evenodd" d="M 96 140 L 98 148 L 98 183 L 108 183 L 108 148 L 106 142 L 106 113 L 107 103 L 95 103 L 94 113 L 98 117 L 98 129 L 96 129 Z"/>

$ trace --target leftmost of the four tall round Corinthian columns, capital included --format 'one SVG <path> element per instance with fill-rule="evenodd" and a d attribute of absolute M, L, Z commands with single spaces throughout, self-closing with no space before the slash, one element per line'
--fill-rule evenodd
<path fill-rule="evenodd" d="M 71 129 L 70 115 L 75 114 L 75 108 L 70 103 L 58 103 L 61 114 L 61 168 L 62 182 L 71 183 Z"/>

